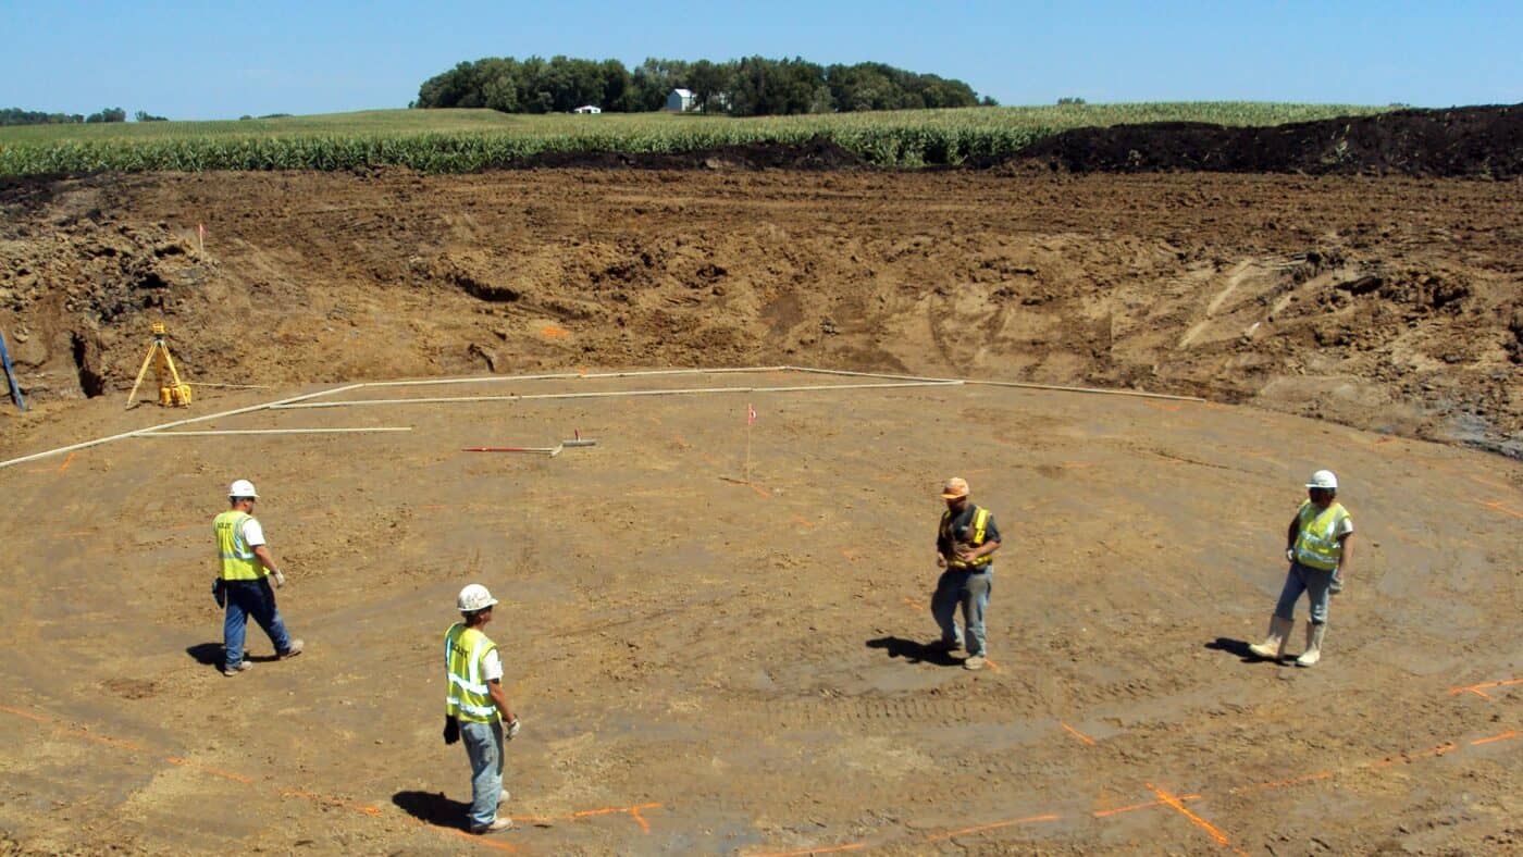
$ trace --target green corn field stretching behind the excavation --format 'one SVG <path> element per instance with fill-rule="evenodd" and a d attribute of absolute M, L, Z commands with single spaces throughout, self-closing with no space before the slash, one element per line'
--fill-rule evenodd
<path fill-rule="evenodd" d="M 544 152 L 681 154 L 714 146 L 825 137 L 885 167 L 1007 157 L 1084 126 L 1141 122 L 1282 125 L 1386 108 L 1253 102 L 961 108 L 731 119 L 725 116 L 507 116 L 490 110 L 111 125 L 0 128 L 0 175 L 99 170 L 341 170 L 367 164 L 420 172 L 510 166 Z"/>

